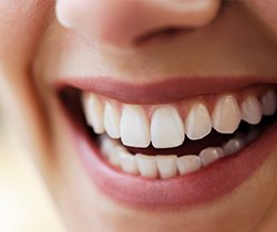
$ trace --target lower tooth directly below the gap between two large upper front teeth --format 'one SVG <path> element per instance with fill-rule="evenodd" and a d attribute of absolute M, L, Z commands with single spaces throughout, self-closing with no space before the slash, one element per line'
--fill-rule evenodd
<path fill-rule="evenodd" d="M 150 178 L 156 178 L 158 176 L 154 157 L 137 154 L 135 158 L 141 176 Z"/>

